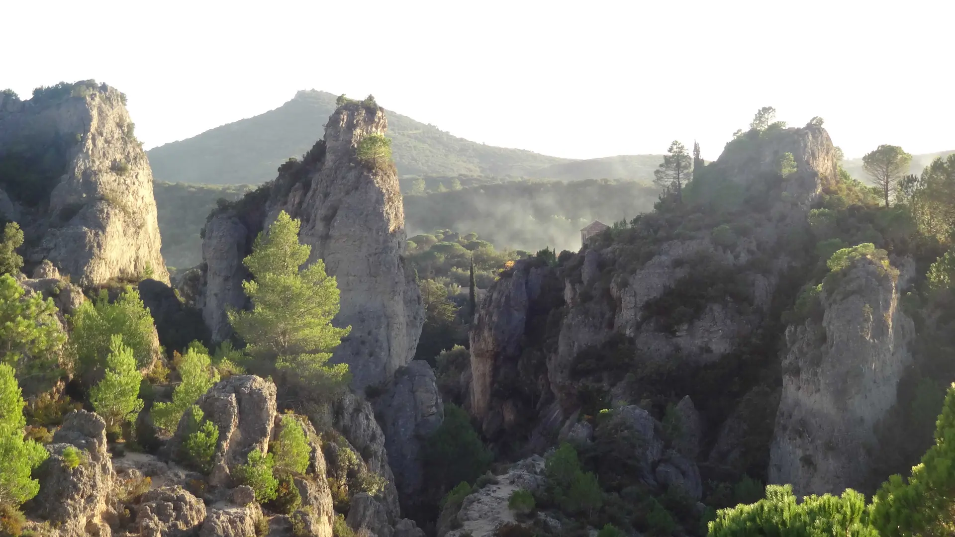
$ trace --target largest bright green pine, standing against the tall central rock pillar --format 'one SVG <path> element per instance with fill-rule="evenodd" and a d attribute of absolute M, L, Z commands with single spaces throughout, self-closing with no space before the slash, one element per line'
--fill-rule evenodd
<path fill-rule="evenodd" d="M 229 311 L 229 321 L 247 344 L 245 351 L 266 367 L 293 372 L 316 393 L 342 389 L 350 380 L 347 364 L 328 365 L 331 352 L 351 327 L 337 328 L 339 290 L 325 263 L 306 269 L 311 247 L 299 244 L 301 223 L 285 211 L 259 233 L 244 259 L 253 280 L 243 282 L 251 311 Z"/>

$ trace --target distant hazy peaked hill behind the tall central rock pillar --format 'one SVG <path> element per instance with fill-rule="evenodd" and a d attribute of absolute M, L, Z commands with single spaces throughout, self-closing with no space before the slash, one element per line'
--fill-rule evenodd
<path fill-rule="evenodd" d="M 300 157 L 322 137 L 335 96 L 301 91 L 284 105 L 216 127 L 188 140 L 147 152 L 158 181 L 171 183 L 265 183 L 289 157 Z M 471 174 L 562 180 L 652 178 L 651 156 L 572 161 L 457 138 L 434 125 L 388 112 L 398 175 Z M 647 163 L 649 159 L 649 163 Z M 567 165 L 563 165 L 567 164 Z M 649 165 L 649 168 L 647 167 Z"/>

